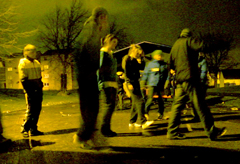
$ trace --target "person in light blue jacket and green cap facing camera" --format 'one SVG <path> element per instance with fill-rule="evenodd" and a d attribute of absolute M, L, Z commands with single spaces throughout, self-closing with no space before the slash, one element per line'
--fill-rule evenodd
<path fill-rule="evenodd" d="M 158 119 L 163 118 L 164 102 L 161 96 L 161 91 L 165 84 L 166 76 L 168 74 L 167 64 L 162 61 L 163 52 L 155 50 L 152 52 L 152 60 L 145 67 L 143 76 L 141 78 L 142 85 L 147 83 L 148 95 L 145 103 L 146 117 L 149 118 L 149 110 L 153 101 L 154 93 L 157 93 L 158 98 Z"/>

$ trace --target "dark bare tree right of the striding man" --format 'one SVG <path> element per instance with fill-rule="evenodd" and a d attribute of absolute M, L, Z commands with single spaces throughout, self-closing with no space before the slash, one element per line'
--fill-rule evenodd
<path fill-rule="evenodd" d="M 214 79 L 214 85 L 217 87 L 217 74 L 220 70 L 231 69 L 237 66 L 229 51 L 235 47 L 233 34 L 223 32 L 209 32 L 203 34 L 203 51 L 206 55 L 210 75 Z"/>

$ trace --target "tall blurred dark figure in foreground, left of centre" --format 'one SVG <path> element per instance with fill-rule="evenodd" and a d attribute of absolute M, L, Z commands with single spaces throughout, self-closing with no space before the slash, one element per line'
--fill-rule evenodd
<path fill-rule="evenodd" d="M 80 148 L 92 149 L 87 143 L 93 139 L 99 112 L 99 90 L 97 70 L 99 69 L 101 38 L 109 34 L 108 12 L 102 7 L 93 9 L 92 15 L 84 23 L 76 43 L 74 58 L 78 81 L 80 103 L 80 127 L 74 142 Z"/>

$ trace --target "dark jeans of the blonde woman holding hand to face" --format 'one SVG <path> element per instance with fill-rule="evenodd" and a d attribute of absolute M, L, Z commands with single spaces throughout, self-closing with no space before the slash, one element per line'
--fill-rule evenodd
<path fill-rule="evenodd" d="M 134 86 L 133 90 L 130 90 L 131 99 L 132 99 L 132 107 L 131 107 L 131 115 L 130 115 L 130 123 L 136 123 L 137 119 L 140 119 L 140 124 L 144 124 L 147 120 L 144 116 L 145 111 L 145 103 L 142 92 L 139 86 Z"/>

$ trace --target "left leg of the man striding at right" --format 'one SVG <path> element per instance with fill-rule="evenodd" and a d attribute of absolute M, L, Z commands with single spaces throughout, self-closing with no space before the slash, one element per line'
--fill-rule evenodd
<path fill-rule="evenodd" d="M 175 89 L 175 96 L 171 107 L 171 115 L 168 123 L 167 138 L 178 137 L 181 111 L 184 109 L 187 95 L 184 90 L 184 83 L 178 84 Z"/>

